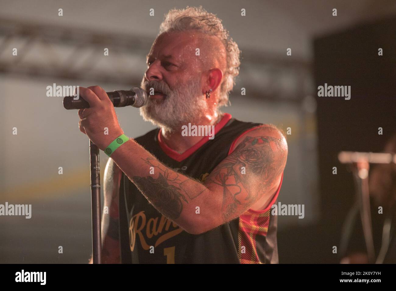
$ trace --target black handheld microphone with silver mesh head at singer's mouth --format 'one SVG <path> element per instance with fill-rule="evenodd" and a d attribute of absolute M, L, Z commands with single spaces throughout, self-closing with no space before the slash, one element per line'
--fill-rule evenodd
<path fill-rule="evenodd" d="M 146 104 L 148 95 L 145 90 L 140 87 L 133 87 L 129 91 L 117 90 L 106 92 L 114 107 L 125 107 L 132 105 L 133 107 L 142 107 Z M 82 109 L 89 108 L 89 103 L 81 97 L 74 100 L 74 96 L 66 96 L 63 98 L 63 107 L 65 109 Z"/>

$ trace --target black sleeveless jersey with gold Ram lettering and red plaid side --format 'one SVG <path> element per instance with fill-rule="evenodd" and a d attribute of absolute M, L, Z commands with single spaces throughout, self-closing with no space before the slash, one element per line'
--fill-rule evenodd
<path fill-rule="evenodd" d="M 161 141 L 160 129 L 135 139 L 160 162 L 204 181 L 232 150 L 238 137 L 261 124 L 241 122 L 225 113 L 214 139 L 204 137 L 183 154 Z M 283 175 L 282 175 L 283 179 Z M 281 183 L 282 184 L 282 181 Z M 122 263 L 278 263 L 277 217 L 270 215 L 276 195 L 263 211 L 249 209 L 203 234 L 189 234 L 158 212 L 122 173 L 120 244 Z"/>

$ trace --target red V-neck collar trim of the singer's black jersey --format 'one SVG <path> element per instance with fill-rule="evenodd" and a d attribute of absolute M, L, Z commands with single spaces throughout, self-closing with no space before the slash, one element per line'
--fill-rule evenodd
<path fill-rule="evenodd" d="M 215 125 L 215 133 L 214 133 L 214 135 L 216 135 L 220 131 L 220 129 L 222 129 L 223 126 L 225 126 L 227 124 L 227 122 L 231 118 L 232 118 L 231 114 L 225 113 L 223 118 L 221 118 L 220 122 Z M 209 141 L 209 137 L 208 136 L 203 137 L 200 141 L 198 141 L 198 143 L 196 143 L 195 145 L 191 146 L 185 152 L 179 154 L 175 150 L 172 150 L 168 145 L 166 145 L 166 143 L 164 143 L 164 141 L 162 140 L 162 137 L 161 137 L 161 129 L 158 131 L 158 144 L 160 145 L 162 150 L 165 152 L 165 154 L 167 156 L 169 156 L 169 158 L 172 158 L 173 160 L 176 160 L 177 162 L 181 162 L 184 159 L 188 158 L 196 150 L 198 150 L 198 148 L 200 148 L 202 145 L 204 145 L 207 141 Z"/>

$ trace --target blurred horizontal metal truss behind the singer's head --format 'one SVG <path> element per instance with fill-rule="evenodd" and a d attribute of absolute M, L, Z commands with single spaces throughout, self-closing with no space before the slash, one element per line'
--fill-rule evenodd
<path fill-rule="evenodd" d="M 0 18 L 0 73 L 89 80 L 95 84 L 140 84 L 145 55 L 154 38 L 106 33 Z M 17 48 L 17 55 L 12 55 Z M 104 49 L 109 55 L 104 55 Z M 241 48 L 234 94 L 268 101 L 301 101 L 311 94 L 312 69 L 306 61 Z"/>

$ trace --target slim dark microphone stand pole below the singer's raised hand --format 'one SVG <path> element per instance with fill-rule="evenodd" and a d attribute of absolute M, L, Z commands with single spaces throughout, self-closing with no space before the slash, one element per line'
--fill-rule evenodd
<path fill-rule="evenodd" d="M 89 140 L 89 164 L 91 170 L 91 212 L 92 212 L 92 258 L 94 264 L 101 264 L 101 203 L 99 148 Z"/>

